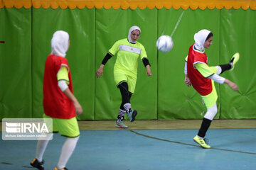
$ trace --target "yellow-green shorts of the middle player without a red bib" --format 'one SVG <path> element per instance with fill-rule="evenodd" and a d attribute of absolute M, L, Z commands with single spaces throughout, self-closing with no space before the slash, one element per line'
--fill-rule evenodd
<path fill-rule="evenodd" d="M 128 91 L 134 94 L 137 77 L 132 77 L 131 75 L 124 72 L 122 69 L 114 69 L 114 81 L 117 86 L 122 82 L 127 82 Z"/>

